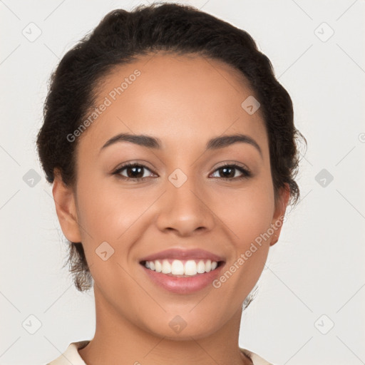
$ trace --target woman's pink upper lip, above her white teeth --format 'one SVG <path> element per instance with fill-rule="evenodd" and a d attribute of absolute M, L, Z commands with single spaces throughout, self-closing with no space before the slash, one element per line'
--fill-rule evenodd
<path fill-rule="evenodd" d="M 183 250 L 180 248 L 170 248 L 168 250 L 156 252 L 140 259 L 142 261 L 155 261 L 156 259 L 210 259 L 211 261 L 224 261 L 223 257 L 212 252 L 201 249 Z"/>

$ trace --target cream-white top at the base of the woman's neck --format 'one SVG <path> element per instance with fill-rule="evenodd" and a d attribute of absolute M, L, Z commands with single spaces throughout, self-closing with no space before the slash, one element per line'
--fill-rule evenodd
<path fill-rule="evenodd" d="M 86 365 L 85 361 L 81 358 L 80 354 L 78 354 L 78 349 L 83 349 L 90 341 L 77 341 L 72 342 L 68 345 L 68 348 L 62 355 L 58 356 L 57 359 L 51 361 L 47 365 Z M 241 349 L 242 352 L 247 355 L 251 360 L 252 364 L 254 365 L 272 365 L 266 360 L 262 359 L 257 354 L 254 354 L 251 351 L 246 349 Z"/>

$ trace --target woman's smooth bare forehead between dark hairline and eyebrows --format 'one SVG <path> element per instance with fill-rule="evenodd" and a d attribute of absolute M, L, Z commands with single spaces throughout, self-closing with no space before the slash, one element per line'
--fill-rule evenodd
<path fill-rule="evenodd" d="M 238 132 L 266 145 L 260 110 L 250 115 L 241 106 L 250 96 L 255 93 L 241 73 L 222 61 L 162 52 L 140 56 L 101 80 L 98 115 L 80 143 L 100 148 L 113 135 L 128 132 L 156 135 L 163 148 L 186 148 Z"/>

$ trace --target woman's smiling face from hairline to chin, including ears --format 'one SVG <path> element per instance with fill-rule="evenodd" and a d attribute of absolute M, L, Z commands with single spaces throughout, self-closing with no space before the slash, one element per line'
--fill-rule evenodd
<path fill-rule="evenodd" d="M 241 312 L 287 205 L 284 192 L 274 204 L 260 110 L 241 106 L 255 94 L 225 63 L 157 53 L 115 68 L 97 95 L 100 114 L 77 140 L 77 185 L 65 208 L 77 223 L 58 207 L 68 240 L 83 242 L 96 307 L 151 334 L 212 334 Z M 228 135 L 243 137 L 212 142 Z M 184 269 L 195 261 L 209 271 L 215 255 L 217 268 L 178 277 L 141 262 L 170 249 L 178 256 L 162 254 L 161 264 L 180 257 Z"/>

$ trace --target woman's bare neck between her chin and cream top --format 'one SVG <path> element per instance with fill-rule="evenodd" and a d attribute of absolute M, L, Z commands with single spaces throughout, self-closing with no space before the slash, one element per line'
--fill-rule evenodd
<path fill-rule="evenodd" d="M 138 327 L 103 298 L 94 285 L 96 332 L 78 353 L 86 364 L 118 365 L 249 365 L 240 351 L 238 337 L 242 309 L 225 325 L 206 336 L 156 336 Z M 214 316 L 214 314 L 213 314 Z M 183 334 L 183 331 L 181 332 Z"/>

